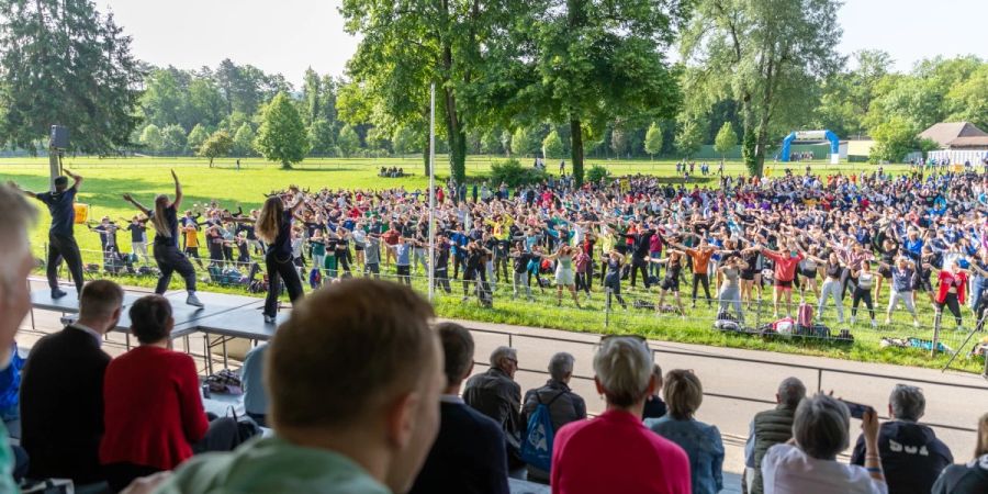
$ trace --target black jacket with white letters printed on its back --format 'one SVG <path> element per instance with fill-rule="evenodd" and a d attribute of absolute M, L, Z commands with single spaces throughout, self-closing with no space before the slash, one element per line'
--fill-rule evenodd
<path fill-rule="evenodd" d="M 852 464 L 864 464 L 864 436 L 857 438 Z M 878 456 L 888 492 L 923 493 L 947 465 L 954 462 L 951 450 L 924 425 L 905 420 L 889 420 L 878 429 Z"/>

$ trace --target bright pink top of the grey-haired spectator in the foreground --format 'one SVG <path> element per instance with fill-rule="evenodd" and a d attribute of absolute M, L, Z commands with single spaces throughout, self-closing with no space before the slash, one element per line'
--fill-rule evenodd
<path fill-rule="evenodd" d="M 608 411 L 566 424 L 552 445 L 552 494 L 689 494 L 689 460 L 640 417 Z"/>

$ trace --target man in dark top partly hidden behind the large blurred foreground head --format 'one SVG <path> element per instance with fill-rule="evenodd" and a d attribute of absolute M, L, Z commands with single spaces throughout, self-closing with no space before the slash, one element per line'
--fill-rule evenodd
<path fill-rule="evenodd" d="M 446 355 L 441 425 L 409 494 L 508 494 L 504 433 L 458 396 L 460 384 L 473 371 L 473 337 L 454 323 L 442 323 L 436 332 Z"/>

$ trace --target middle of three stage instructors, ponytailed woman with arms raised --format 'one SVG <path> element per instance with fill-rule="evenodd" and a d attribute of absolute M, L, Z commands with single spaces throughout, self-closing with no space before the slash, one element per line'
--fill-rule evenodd
<path fill-rule="evenodd" d="M 182 279 L 186 280 L 186 290 L 189 292 L 186 303 L 195 307 L 202 307 L 202 302 L 195 296 L 195 269 L 178 246 L 177 210 L 182 203 L 182 186 L 179 183 L 175 170 L 171 170 L 171 178 L 175 180 L 175 201 L 169 201 L 168 195 L 158 194 L 155 198 L 154 211 L 142 205 L 128 193 L 124 194 L 123 199 L 141 210 L 155 227 L 155 261 L 161 271 L 155 293 L 164 294 L 168 290 L 168 283 L 171 282 L 171 274 L 178 271 Z"/>

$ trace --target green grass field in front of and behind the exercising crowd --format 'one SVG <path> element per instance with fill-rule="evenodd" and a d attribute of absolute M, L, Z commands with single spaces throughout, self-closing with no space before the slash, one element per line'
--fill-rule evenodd
<path fill-rule="evenodd" d="M 489 157 L 471 157 L 468 160 L 468 175 L 472 177 L 483 177 L 490 171 L 493 160 L 501 158 Z M 527 164 L 527 160 L 523 161 Z M 590 160 L 588 166 L 603 165 L 607 167 L 613 175 L 633 175 L 649 173 L 660 177 L 672 178 L 674 175 L 674 160 Z M 212 200 L 218 201 L 226 207 L 236 209 L 243 205 L 244 209 L 259 207 L 263 200 L 263 192 L 270 192 L 274 189 L 283 189 L 290 183 L 297 184 L 302 188 L 313 190 L 322 188 L 347 188 L 347 189 L 383 189 L 404 187 L 406 190 L 423 189 L 427 186 L 428 179 L 423 176 L 423 164 L 418 157 L 402 158 L 384 158 L 384 159 L 310 159 L 295 170 L 281 170 L 277 166 L 268 164 L 262 159 L 243 159 L 242 169 L 234 169 L 233 160 L 217 160 L 214 168 L 207 167 L 207 161 L 198 158 L 114 158 L 100 159 L 90 157 L 72 158 L 66 157 L 64 166 L 72 169 L 86 178 L 82 191 L 77 201 L 91 205 L 92 217 L 97 221 L 103 215 L 108 215 L 115 220 L 128 218 L 134 215 L 135 211 L 131 209 L 121 195 L 125 192 L 133 194 L 138 201 L 149 204 L 157 193 L 171 193 L 172 183 L 168 172 L 169 168 L 173 168 L 181 179 L 186 193 L 186 205 L 189 207 L 193 204 L 207 204 Z M 382 179 L 379 178 L 378 169 L 381 166 L 403 167 L 406 172 L 415 173 L 411 177 L 401 179 Z M 793 164 L 794 170 L 801 170 L 805 164 Z M 843 173 L 860 171 L 862 169 L 871 170 L 872 167 L 865 164 L 839 165 L 830 166 L 821 162 L 812 164 L 815 169 L 821 173 L 832 173 L 840 170 Z M 715 167 L 716 168 L 716 167 Z M 773 165 L 773 175 L 782 172 L 782 166 Z M 901 172 L 907 168 L 903 166 L 886 166 L 886 170 L 891 172 Z M 437 157 L 437 180 L 445 180 L 448 176 L 449 166 L 445 157 Z M 555 171 L 553 166 L 549 166 L 550 171 Z M 740 162 L 728 162 L 726 171 L 731 175 L 743 172 L 743 166 Z M 22 187 L 30 190 L 43 190 L 47 187 L 47 159 L 46 158 L 2 158 L 0 159 L 0 179 L 14 180 Z M 708 183 L 716 184 L 716 178 L 709 177 Z M 691 182 L 705 183 L 703 178 L 691 180 Z M 41 215 L 41 222 L 33 232 L 32 242 L 38 257 L 43 256 L 44 245 L 47 238 L 47 227 L 49 216 L 45 213 Z M 83 258 L 86 262 L 100 263 L 100 243 L 99 236 L 89 233 L 83 226 L 77 225 L 76 236 L 80 248 L 83 249 Z M 126 234 L 120 234 L 120 242 L 124 245 L 124 250 L 128 250 Z M 201 274 L 205 277 L 203 272 Z M 153 285 L 154 279 L 122 277 L 121 282 L 126 284 Z M 180 281 L 175 280 L 173 288 L 180 287 Z M 416 287 L 425 290 L 424 281 L 416 281 Z M 216 285 L 204 285 L 204 290 L 214 290 L 220 292 L 243 293 L 240 288 L 223 288 Z M 685 289 L 685 287 L 684 287 Z M 932 332 L 929 329 L 917 330 L 911 325 L 905 324 L 906 319 L 897 317 L 889 327 L 879 327 L 876 330 L 868 328 L 866 325 L 858 324 L 853 328 L 856 341 L 852 346 L 838 346 L 832 344 L 799 341 L 799 340 L 763 340 L 756 337 L 723 335 L 718 332 L 710 330 L 710 323 L 715 313 L 707 310 L 705 304 L 700 304 L 700 308 L 688 311 L 689 318 L 681 319 L 672 316 L 655 316 L 648 311 L 629 310 L 624 312 L 620 308 L 605 316 L 603 294 L 597 292 L 594 299 L 585 303 L 583 310 L 573 307 L 572 300 L 563 300 L 563 307 L 555 306 L 554 289 L 547 290 L 546 294 L 538 296 L 534 303 L 512 301 L 510 289 L 498 287 L 495 295 L 495 308 L 483 308 L 475 302 L 463 303 L 460 300 L 462 288 L 460 283 L 453 282 L 452 295 L 441 295 L 436 300 L 437 312 L 447 317 L 460 317 L 475 321 L 487 321 L 496 323 L 518 324 L 526 326 L 555 327 L 579 332 L 633 332 L 658 339 L 667 339 L 685 343 L 697 343 L 706 345 L 742 347 L 752 349 L 801 352 L 809 355 L 830 356 L 861 361 L 880 361 L 900 364 L 913 364 L 924 367 L 942 367 L 945 362 L 944 357 L 934 359 L 929 358 L 927 352 L 910 349 L 882 349 L 878 341 L 883 336 L 920 336 L 930 338 Z M 684 292 L 685 293 L 685 292 Z M 637 293 L 628 294 L 630 297 L 642 297 L 650 302 L 654 302 L 654 294 L 643 293 L 639 290 Z M 771 296 L 765 292 L 765 297 Z M 885 294 L 883 294 L 885 299 Z M 583 302 L 583 301 L 581 301 Z M 631 301 L 629 300 L 629 304 Z M 879 306 L 880 306 L 879 302 Z M 922 318 L 924 325 L 932 322 L 932 311 L 929 304 L 920 302 L 918 305 L 923 307 Z M 832 308 L 829 315 L 832 316 Z M 866 319 L 864 313 L 858 314 L 861 319 Z M 749 316 L 754 318 L 753 315 Z M 879 316 L 879 321 L 880 321 Z M 605 318 L 609 324 L 605 326 Z M 771 307 L 763 307 L 760 319 L 762 323 L 771 318 Z M 827 321 L 831 328 L 835 332 L 837 325 Z M 944 332 L 942 338 L 948 345 L 958 343 L 964 334 L 953 330 Z M 967 370 L 978 370 L 980 363 L 968 359 L 958 359 L 961 367 Z"/>

